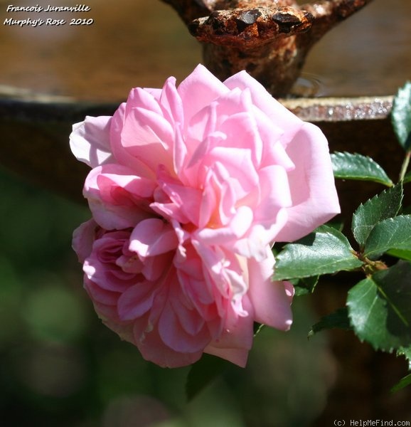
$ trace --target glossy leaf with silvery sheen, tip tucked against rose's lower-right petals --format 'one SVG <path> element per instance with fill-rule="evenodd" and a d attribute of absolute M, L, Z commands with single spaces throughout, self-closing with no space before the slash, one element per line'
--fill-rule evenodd
<path fill-rule="evenodd" d="M 361 267 L 346 236 L 329 226 L 320 226 L 299 241 L 289 243 L 276 257 L 274 280 L 353 270 Z"/>

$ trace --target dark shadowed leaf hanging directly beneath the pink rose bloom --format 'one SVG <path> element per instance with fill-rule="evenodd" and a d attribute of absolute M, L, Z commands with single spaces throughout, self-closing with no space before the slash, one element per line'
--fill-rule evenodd
<path fill-rule="evenodd" d="M 220 374 L 223 374 L 230 365 L 230 362 L 225 359 L 220 359 L 220 357 L 215 357 L 211 354 L 203 354 L 201 359 L 193 364 L 190 371 L 188 371 L 186 381 L 187 399 L 190 401 L 196 397 L 208 384 Z"/>

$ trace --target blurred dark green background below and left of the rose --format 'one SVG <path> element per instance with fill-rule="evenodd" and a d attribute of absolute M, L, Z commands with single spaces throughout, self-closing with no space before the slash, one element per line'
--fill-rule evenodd
<path fill-rule="evenodd" d="M 309 426 L 334 364 L 316 321 L 294 304 L 289 333 L 265 329 L 246 369 L 230 367 L 192 401 L 185 369 L 145 362 L 97 319 L 71 249 L 89 212 L 0 169 L 0 425 Z"/>

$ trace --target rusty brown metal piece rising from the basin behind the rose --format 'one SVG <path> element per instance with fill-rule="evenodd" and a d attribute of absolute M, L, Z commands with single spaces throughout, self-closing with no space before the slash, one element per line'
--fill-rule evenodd
<path fill-rule="evenodd" d="M 247 70 L 276 97 L 287 95 L 314 44 L 372 0 L 164 0 L 203 43 L 205 65 L 225 80 Z M 209 11 L 199 17 L 202 11 Z"/>

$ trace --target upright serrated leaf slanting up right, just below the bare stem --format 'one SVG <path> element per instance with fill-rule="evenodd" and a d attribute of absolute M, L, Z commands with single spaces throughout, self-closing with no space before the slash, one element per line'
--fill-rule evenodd
<path fill-rule="evenodd" d="M 354 212 L 351 230 L 361 248 L 375 224 L 397 215 L 402 195 L 402 184 L 397 184 L 361 204 Z"/>

